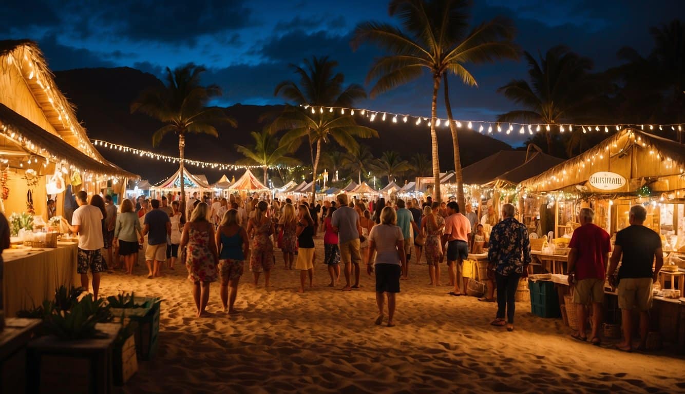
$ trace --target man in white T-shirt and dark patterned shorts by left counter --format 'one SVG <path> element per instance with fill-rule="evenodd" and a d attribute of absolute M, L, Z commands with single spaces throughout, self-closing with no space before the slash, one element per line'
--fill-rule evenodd
<path fill-rule="evenodd" d="M 76 194 L 79 206 L 73 213 L 69 231 L 79 234 L 76 272 L 81 276 L 81 286 L 88 291 L 88 270 L 92 273 L 92 294 L 97 300 L 101 272 L 107 270 L 100 250 L 105 246 L 102 234 L 102 211 L 88 205 L 88 194 L 83 190 Z"/>

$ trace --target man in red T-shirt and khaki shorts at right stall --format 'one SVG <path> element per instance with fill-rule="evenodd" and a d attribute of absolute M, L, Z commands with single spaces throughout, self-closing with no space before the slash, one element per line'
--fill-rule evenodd
<path fill-rule="evenodd" d="M 604 278 L 606 265 L 611 251 L 609 234 L 593 224 L 595 212 L 590 208 L 580 210 L 579 228 L 573 231 L 569 243 L 569 285 L 575 286 L 573 302 L 578 321 L 578 331 L 571 335 L 574 339 L 587 341 L 585 326 L 587 312 L 585 306 L 593 304 L 593 330 L 590 342 L 599 345 L 599 325 L 601 324 L 602 302 L 604 299 Z"/>

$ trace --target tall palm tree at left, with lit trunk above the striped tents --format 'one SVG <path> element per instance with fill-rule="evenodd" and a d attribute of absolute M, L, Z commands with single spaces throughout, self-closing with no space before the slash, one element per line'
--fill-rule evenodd
<path fill-rule="evenodd" d="M 192 63 L 177 67 L 173 71 L 167 67 L 166 85 L 142 91 L 131 104 L 132 114 L 139 111 L 164 122 L 164 126 L 152 135 L 153 146 L 160 144 L 167 133 L 178 135 L 182 215 L 185 215 L 186 211 L 183 181 L 186 134 L 209 134 L 219 137 L 214 124 L 226 122 L 232 127 L 238 126 L 236 120 L 227 116 L 223 109 L 206 107 L 210 99 L 221 96 L 221 90 L 216 85 L 200 85 L 200 74 L 203 71 L 204 67 Z"/>

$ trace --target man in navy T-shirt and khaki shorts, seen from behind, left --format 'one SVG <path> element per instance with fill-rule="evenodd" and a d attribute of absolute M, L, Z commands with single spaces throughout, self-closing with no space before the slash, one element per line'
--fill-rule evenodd
<path fill-rule="evenodd" d="M 152 211 L 145 214 L 142 228 L 142 235 L 147 235 L 145 264 L 148 279 L 160 276 L 160 265 L 162 261 L 166 261 L 166 238 L 171 237 L 171 220 L 169 215 L 160 209 L 160 200 L 151 200 L 150 205 Z"/>

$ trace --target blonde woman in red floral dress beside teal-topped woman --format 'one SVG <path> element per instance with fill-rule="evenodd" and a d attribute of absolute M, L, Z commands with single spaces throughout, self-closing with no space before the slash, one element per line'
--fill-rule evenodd
<path fill-rule="evenodd" d="M 180 248 L 188 269 L 188 280 L 192 282 L 192 298 L 197 306 L 197 317 L 207 317 L 205 311 L 210 298 L 210 283 L 216 281 L 216 265 L 219 256 L 214 241 L 214 226 L 207 220 L 209 207 L 200 202 L 192 211 L 190 222 L 186 223 L 181 235 Z M 184 249 L 185 248 L 185 249 Z"/>

